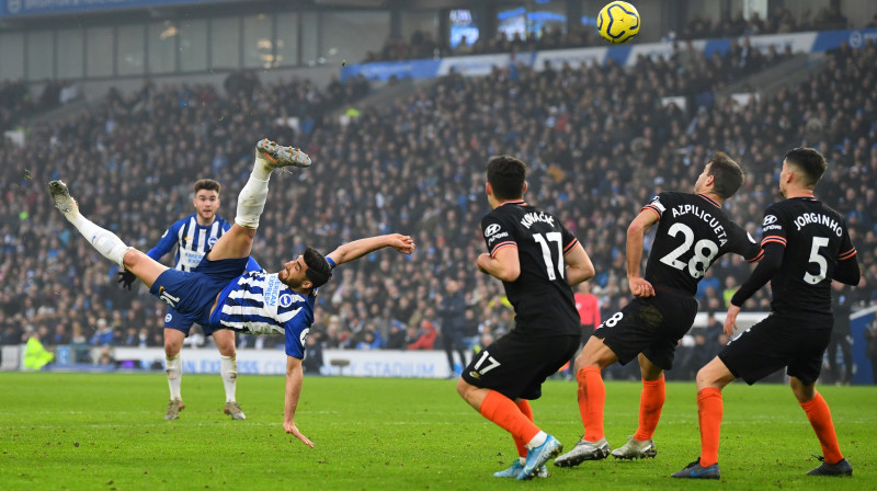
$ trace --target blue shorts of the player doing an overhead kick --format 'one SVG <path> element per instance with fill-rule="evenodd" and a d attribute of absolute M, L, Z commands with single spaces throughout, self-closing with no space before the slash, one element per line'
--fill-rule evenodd
<path fill-rule="evenodd" d="M 204 256 L 194 271 L 167 270 L 161 273 L 149 288 L 149 294 L 178 312 L 180 321 L 207 327 L 216 296 L 229 282 L 247 271 L 248 261 L 249 258 L 210 261 Z"/>

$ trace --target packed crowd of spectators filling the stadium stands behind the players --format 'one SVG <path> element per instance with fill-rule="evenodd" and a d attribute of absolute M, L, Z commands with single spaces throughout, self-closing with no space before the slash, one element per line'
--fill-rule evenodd
<path fill-rule="evenodd" d="M 330 94 L 344 89 L 338 82 L 111 91 L 94 109 L 31 127 L 24 148 L 0 148 L 0 342 L 38 335 L 49 346 L 161 346 L 163 305 L 146 288 L 129 293 L 115 283 L 115 266 L 71 237 L 46 183 L 64 179 L 84 215 L 146 251 L 192 213 L 196 179 L 223 183 L 219 214 L 232 219 L 253 145 L 264 136 L 299 145 L 315 161 L 272 181 L 253 248 L 269 271 L 306 246 L 328 251 L 375 233 L 409 233 L 419 247 L 410 258 L 375 253 L 339 269 L 316 310 L 311 336 L 321 347 L 441 346 L 435 297 L 451 277 L 465 285 L 467 335 L 487 341 L 512 328 L 500 283 L 475 267 L 485 248 L 478 224 L 489 209 L 483 168 L 498 153 L 528 162 L 527 198 L 577 233 L 597 271 L 593 293 L 611 315 L 629 297 L 627 226 L 652 195 L 691 191 L 710 153 L 725 150 L 748 173 L 726 208 L 760 238 L 762 212 L 781 197 L 783 155 L 813 146 L 830 161 L 817 194 L 847 217 L 866 269 L 867 283 L 851 295 L 857 306 L 877 301 L 874 44 L 832 53 L 808 81 L 745 105 L 710 95 L 736 69 L 732 54 L 683 49 L 640 59 L 637 77 L 612 62 L 451 73 L 348 124 L 330 116 Z M 686 114 L 662 103 L 670 95 L 702 107 Z M 737 256 L 717 262 L 701 282 L 701 310 L 724 311 L 749 271 Z M 744 309 L 768 310 L 768 302 L 765 288 Z M 697 343 L 724 342 L 715 330 L 702 333 Z"/>

